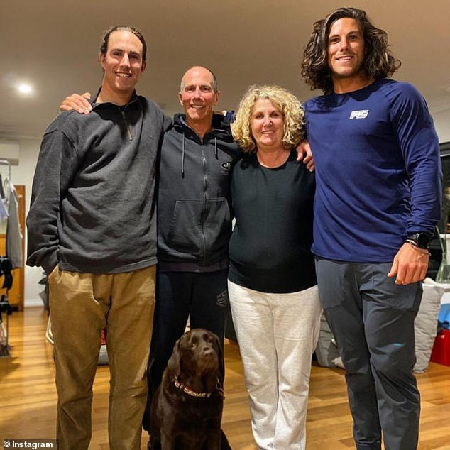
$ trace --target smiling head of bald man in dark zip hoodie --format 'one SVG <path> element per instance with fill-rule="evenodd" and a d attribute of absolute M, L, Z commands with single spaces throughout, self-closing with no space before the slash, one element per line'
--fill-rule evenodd
<path fill-rule="evenodd" d="M 214 105 L 220 92 L 214 92 L 214 77 L 205 67 L 192 67 L 182 77 L 180 104 L 185 110 L 186 123 L 190 126 L 211 126 Z"/>

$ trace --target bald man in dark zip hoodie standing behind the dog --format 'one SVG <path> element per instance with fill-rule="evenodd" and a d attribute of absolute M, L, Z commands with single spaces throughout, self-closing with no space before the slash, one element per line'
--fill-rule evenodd
<path fill-rule="evenodd" d="M 158 180 L 158 283 L 150 388 L 157 388 L 175 341 L 205 328 L 224 339 L 231 236 L 231 168 L 241 150 L 222 114 L 220 92 L 206 67 L 182 77 L 175 114 L 164 136 Z"/>

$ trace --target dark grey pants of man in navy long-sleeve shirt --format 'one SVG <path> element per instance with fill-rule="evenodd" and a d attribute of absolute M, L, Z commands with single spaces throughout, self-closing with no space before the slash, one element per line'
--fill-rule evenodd
<path fill-rule="evenodd" d="M 414 321 L 421 283 L 395 285 L 390 263 L 316 258 L 319 297 L 346 368 L 358 450 L 414 450 L 420 396 Z"/>

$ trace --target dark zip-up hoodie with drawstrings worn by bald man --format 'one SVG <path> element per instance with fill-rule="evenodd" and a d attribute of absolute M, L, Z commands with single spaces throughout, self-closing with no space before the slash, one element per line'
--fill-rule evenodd
<path fill-rule="evenodd" d="M 231 169 L 241 156 L 229 124 L 214 114 L 201 139 L 176 114 L 165 133 L 158 180 L 160 270 L 228 268 Z"/>

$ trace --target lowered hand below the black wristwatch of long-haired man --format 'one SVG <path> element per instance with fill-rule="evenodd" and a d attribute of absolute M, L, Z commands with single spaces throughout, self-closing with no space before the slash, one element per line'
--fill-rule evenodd
<path fill-rule="evenodd" d="M 409 285 L 412 282 L 422 281 L 427 275 L 428 263 L 428 251 L 404 243 L 395 255 L 388 277 L 397 275 L 396 285 Z"/>

